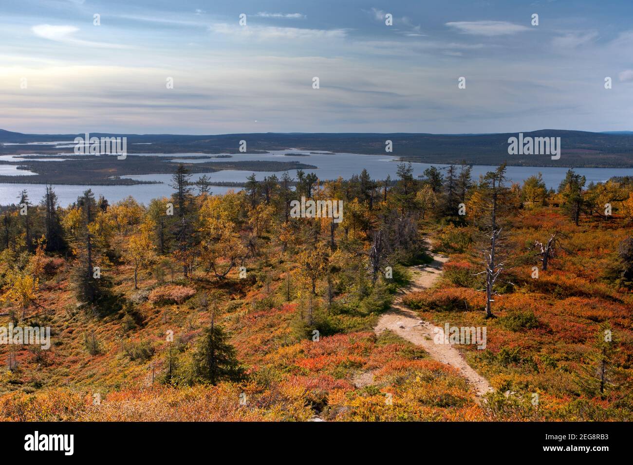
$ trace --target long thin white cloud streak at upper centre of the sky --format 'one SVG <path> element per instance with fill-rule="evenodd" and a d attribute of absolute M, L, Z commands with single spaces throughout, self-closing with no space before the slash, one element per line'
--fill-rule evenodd
<path fill-rule="evenodd" d="M 211 32 L 225 35 L 245 35 L 255 39 L 343 39 L 345 29 L 308 29 L 299 27 L 238 26 L 227 23 L 215 23 L 209 27 Z"/>

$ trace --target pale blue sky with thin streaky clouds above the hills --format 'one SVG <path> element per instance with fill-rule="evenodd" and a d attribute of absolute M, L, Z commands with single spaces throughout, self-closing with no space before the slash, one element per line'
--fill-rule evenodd
<path fill-rule="evenodd" d="M 630 0 L 0 0 L 0 128 L 633 130 L 632 18 Z"/>

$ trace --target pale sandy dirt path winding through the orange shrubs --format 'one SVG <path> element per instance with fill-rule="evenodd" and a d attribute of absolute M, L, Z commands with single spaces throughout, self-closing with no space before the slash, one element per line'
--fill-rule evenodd
<path fill-rule="evenodd" d="M 486 378 L 472 369 L 453 345 L 434 344 L 433 337 L 436 334 L 434 333 L 436 326 L 429 321 L 420 320 L 415 311 L 407 308 L 402 303 L 402 297 L 405 294 L 432 287 L 439 279 L 442 273 L 442 266 L 448 261 L 448 257 L 438 254 L 431 255 L 434 258 L 432 263 L 409 268 L 413 273 L 411 285 L 398 291 L 391 310 L 380 317 L 378 325 L 373 330 L 377 334 L 382 333 L 384 330 L 390 330 L 400 337 L 413 342 L 413 344 L 422 346 L 433 359 L 459 369 L 461 376 L 466 378 L 468 383 L 475 389 L 477 396 L 480 397 L 486 392 L 492 391 Z M 358 381 L 357 385 L 367 385 L 367 375 L 363 376 L 365 378 L 361 379 L 359 376 L 358 379 L 354 379 L 354 381 Z"/>

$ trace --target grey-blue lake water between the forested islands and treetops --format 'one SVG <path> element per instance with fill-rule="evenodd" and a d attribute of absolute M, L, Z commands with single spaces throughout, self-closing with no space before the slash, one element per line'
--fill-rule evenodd
<path fill-rule="evenodd" d="M 65 141 L 63 141 L 65 142 Z M 285 156 L 287 153 L 300 153 L 309 154 L 310 156 Z M 165 155 L 165 154 L 138 154 L 138 155 Z M 169 154 L 173 159 L 177 159 L 180 156 L 205 156 L 206 154 Z M 60 154 L 60 158 L 71 158 L 73 154 Z M 11 159 L 11 156 L 2 156 L 1 159 Z M 57 160 L 57 159 L 56 159 Z M 394 156 L 387 155 L 361 155 L 361 154 L 310 154 L 309 151 L 298 151 L 289 149 L 285 151 L 273 151 L 268 154 L 232 154 L 232 158 L 218 158 L 218 159 L 197 159 L 187 160 L 191 163 L 208 162 L 214 163 L 217 161 L 246 161 L 246 160 L 275 160 L 275 161 L 299 161 L 305 164 L 311 164 L 318 166 L 316 170 L 304 170 L 306 173 L 314 172 L 322 179 L 335 179 L 339 176 L 342 178 L 349 178 L 354 174 L 360 174 L 363 168 L 366 168 L 370 177 L 376 180 L 384 180 L 387 175 L 391 175 L 392 179 L 396 179 L 397 160 Z M 53 160 L 51 160 L 53 161 Z M 412 163 L 413 174 L 415 177 L 422 175 L 423 171 L 429 168 L 431 164 L 427 163 Z M 446 167 L 446 165 L 435 164 L 440 168 Z M 472 176 L 473 179 L 479 179 L 479 175 L 492 171 L 496 166 L 473 166 Z M 552 168 L 552 167 L 536 167 L 536 166 L 508 166 L 506 174 L 508 179 L 513 182 L 523 182 L 526 178 L 537 173 L 542 173 L 543 180 L 548 188 L 557 189 L 561 180 L 565 177 L 565 173 L 568 168 Z M 613 176 L 633 176 L 633 168 L 576 168 L 575 171 L 580 175 L 584 175 L 589 182 L 604 182 L 608 178 Z M 28 171 L 15 170 L 15 166 L 0 165 L 0 173 L 3 175 L 28 175 Z M 251 175 L 251 171 L 234 171 L 234 170 L 222 170 L 215 173 L 206 173 L 211 181 L 231 181 L 231 182 L 245 182 L 246 177 Z M 192 180 L 197 180 L 205 173 L 196 173 L 192 176 Z M 262 180 L 265 176 L 277 175 L 280 178 L 283 174 L 282 171 L 256 171 L 255 176 L 258 180 Z M 291 177 L 296 178 L 296 170 L 289 170 Z M 59 197 L 61 206 L 68 206 L 72 202 L 77 200 L 77 197 L 86 189 L 92 189 L 95 196 L 98 197 L 102 194 L 110 203 L 118 202 L 121 199 L 132 195 L 137 201 L 147 204 L 151 199 L 157 197 L 169 196 L 172 193 L 172 188 L 169 187 L 171 175 L 141 175 L 141 176 L 129 176 L 128 178 L 137 180 L 156 180 L 161 181 L 161 184 L 145 184 L 145 185 L 132 185 L 132 186 L 86 186 L 86 185 L 54 185 L 54 190 Z M 27 189 L 28 195 L 32 202 L 39 202 L 44 196 L 44 185 L 40 184 L 28 184 L 28 183 L 0 183 L 0 204 L 6 205 L 16 202 L 16 197 L 20 194 L 22 189 Z M 224 194 L 230 189 L 239 190 L 236 187 L 220 187 L 212 186 L 211 191 L 213 194 Z"/>

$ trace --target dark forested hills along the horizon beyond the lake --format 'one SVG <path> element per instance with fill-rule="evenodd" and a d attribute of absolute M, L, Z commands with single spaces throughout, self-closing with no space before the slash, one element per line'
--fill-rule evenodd
<path fill-rule="evenodd" d="M 391 155 L 423 163 L 499 164 L 514 166 L 572 166 L 633 168 L 633 132 L 585 132 L 544 129 L 524 132 L 524 137 L 560 137 L 561 158 L 546 155 L 509 155 L 508 138 L 518 133 L 242 133 L 221 135 L 109 134 L 128 138 L 128 153 L 238 152 L 246 140 L 249 152 L 282 149 L 385 154 L 385 140 L 392 140 Z M 80 134 L 83 135 L 83 134 Z M 76 134 L 22 134 L 0 130 L 0 142 L 47 142 L 73 140 Z M 151 142 L 151 144 L 148 144 Z M 143 144 L 143 145 L 135 145 Z M 37 147 L 38 152 L 58 153 L 72 149 Z M 33 152 L 33 147 L 0 146 L 0 154 Z"/>

